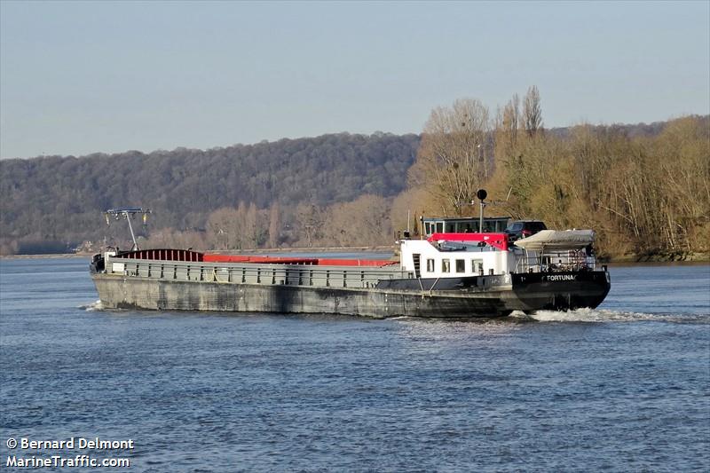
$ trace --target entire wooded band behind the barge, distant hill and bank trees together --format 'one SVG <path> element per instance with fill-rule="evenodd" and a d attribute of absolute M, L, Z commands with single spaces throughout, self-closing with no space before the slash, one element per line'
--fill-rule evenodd
<path fill-rule="evenodd" d="M 458 99 L 420 135 L 340 133 L 209 150 L 0 162 L 0 255 L 129 248 L 234 253 L 380 247 L 420 217 L 485 215 L 591 228 L 604 261 L 710 255 L 710 115 L 649 125 L 544 127 L 531 87 L 490 110 Z M 108 223 L 108 222 L 106 222 Z M 296 249 L 297 248 L 297 249 Z"/>

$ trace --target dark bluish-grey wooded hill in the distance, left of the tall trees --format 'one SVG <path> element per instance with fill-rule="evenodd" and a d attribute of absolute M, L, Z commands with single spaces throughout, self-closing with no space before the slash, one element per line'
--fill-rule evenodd
<path fill-rule="evenodd" d="M 6 160 L 0 162 L 0 249 L 61 251 L 125 236 L 123 225 L 107 230 L 101 216 L 118 206 L 153 209 L 154 232 L 185 232 L 203 230 L 211 212 L 240 202 L 257 209 L 278 202 L 284 213 L 299 203 L 389 197 L 406 185 L 418 146 L 416 135 L 341 133 L 206 151 Z"/>

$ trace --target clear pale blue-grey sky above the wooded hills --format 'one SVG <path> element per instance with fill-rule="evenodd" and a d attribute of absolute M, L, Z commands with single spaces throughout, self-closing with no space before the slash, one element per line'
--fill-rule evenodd
<path fill-rule="evenodd" d="M 0 0 L 0 156 L 419 133 L 540 90 L 546 127 L 710 113 L 710 1 Z"/>

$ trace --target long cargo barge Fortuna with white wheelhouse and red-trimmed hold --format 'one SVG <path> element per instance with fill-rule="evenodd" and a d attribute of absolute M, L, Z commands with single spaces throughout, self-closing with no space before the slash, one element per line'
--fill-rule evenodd
<path fill-rule="evenodd" d="M 92 258 L 91 278 L 106 308 L 490 318 L 601 304 L 611 283 L 593 240 L 432 233 L 398 240 L 399 261 L 112 250 Z"/>

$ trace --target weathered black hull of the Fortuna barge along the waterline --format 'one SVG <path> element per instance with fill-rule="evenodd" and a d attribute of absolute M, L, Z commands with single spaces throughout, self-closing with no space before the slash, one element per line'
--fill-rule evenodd
<path fill-rule="evenodd" d="M 155 280 L 92 274 L 107 308 L 338 313 L 373 318 L 501 317 L 512 311 L 594 308 L 607 272 L 525 273 L 446 280 L 386 280 L 376 288 Z"/>

